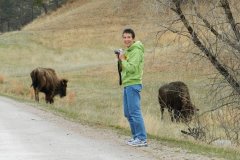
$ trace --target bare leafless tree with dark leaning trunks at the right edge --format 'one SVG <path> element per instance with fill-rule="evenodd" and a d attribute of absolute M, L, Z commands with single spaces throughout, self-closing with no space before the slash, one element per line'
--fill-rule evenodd
<path fill-rule="evenodd" d="M 213 83 L 221 106 L 240 104 L 240 31 L 238 1 L 157 0 L 173 11 L 159 34 L 187 37 L 218 71 Z M 204 3 L 207 2 L 207 3 Z M 221 96 L 219 96 L 221 95 Z M 239 107 L 240 108 L 240 107 Z"/>

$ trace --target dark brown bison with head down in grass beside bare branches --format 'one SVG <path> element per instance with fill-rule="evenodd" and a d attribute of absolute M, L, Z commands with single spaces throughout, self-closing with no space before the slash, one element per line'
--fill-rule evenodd
<path fill-rule="evenodd" d="M 158 101 L 163 119 L 164 108 L 168 109 L 171 121 L 191 121 L 192 116 L 198 109 L 192 104 L 188 87 L 181 81 L 171 82 L 159 88 Z"/>

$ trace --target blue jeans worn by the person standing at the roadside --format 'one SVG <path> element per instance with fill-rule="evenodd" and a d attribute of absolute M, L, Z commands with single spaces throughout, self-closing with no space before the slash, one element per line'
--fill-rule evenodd
<path fill-rule="evenodd" d="M 144 126 L 142 111 L 141 111 L 141 96 L 140 92 L 142 85 L 131 85 L 124 87 L 123 91 L 123 104 L 124 116 L 127 118 L 132 137 L 140 140 L 146 140 L 147 134 Z"/>

